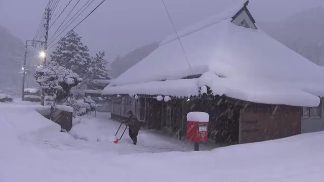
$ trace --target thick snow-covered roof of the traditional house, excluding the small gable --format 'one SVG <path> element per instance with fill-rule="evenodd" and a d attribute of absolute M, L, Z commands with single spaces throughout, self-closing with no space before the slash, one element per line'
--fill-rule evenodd
<path fill-rule="evenodd" d="M 179 32 L 190 66 L 178 39 L 169 36 L 153 53 L 114 79 L 103 94 L 189 97 L 197 96 L 198 87 L 207 85 L 213 95 L 317 106 L 318 96 L 324 96 L 324 68 L 261 30 L 232 24 L 234 10 L 239 9 Z M 182 79 L 196 74 L 203 75 L 196 80 Z"/>

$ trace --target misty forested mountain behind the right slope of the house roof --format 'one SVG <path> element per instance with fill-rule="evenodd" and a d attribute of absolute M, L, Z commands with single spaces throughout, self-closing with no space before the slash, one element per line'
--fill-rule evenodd
<path fill-rule="evenodd" d="M 264 32 L 310 61 L 324 66 L 324 8 L 309 9 L 280 22 L 258 22 Z"/>

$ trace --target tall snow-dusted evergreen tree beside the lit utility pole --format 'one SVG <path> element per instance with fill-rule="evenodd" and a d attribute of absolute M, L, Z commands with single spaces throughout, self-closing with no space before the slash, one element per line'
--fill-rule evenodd
<path fill-rule="evenodd" d="M 59 65 L 86 78 L 91 62 L 89 49 L 81 42 L 80 36 L 73 30 L 58 42 L 51 55 L 51 65 Z"/>

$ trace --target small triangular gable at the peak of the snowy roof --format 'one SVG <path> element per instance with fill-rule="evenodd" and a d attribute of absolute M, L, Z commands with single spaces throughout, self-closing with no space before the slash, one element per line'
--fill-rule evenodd
<path fill-rule="evenodd" d="M 249 4 L 249 1 L 247 1 L 244 4 L 244 7 L 242 7 L 233 17 L 232 17 L 232 23 L 238 26 L 246 27 L 246 28 L 252 28 L 252 29 L 258 29 L 255 25 L 255 20 L 252 17 L 251 13 L 249 12 L 247 6 Z"/>

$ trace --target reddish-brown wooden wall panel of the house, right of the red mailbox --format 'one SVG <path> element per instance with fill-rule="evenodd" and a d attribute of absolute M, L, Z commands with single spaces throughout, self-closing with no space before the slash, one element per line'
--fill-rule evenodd
<path fill-rule="evenodd" d="M 301 133 L 301 107 L 254 104 L 241 113 L 240 143 L 280 139 Z"/>

